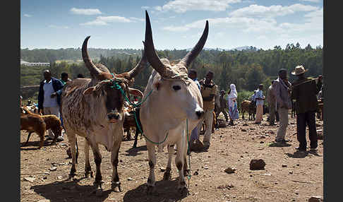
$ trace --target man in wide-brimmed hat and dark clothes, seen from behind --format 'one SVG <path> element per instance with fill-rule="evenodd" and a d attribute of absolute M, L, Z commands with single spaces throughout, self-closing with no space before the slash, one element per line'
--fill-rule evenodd
<path fill-rule="evenodd" d="M 318 146 L 317 131 L 315 129 L 315 111 L 318 107 L 316 95 L 322 87 L 322 76 L 318 77 L 318 83 L 311 78 L 305 77 L 305 70 L 302 65 L 296 66 L 291 74 L 298 79 L 293 83 L 291 98 L 296 100 L 296 138 L 299 147 L 296 150 L 306 151 L 306 125 L 308 125 L 308 136 L 311 150 Z M 312 81 L 311 81 L 312 80 Z"/>

